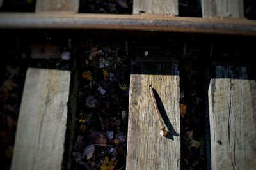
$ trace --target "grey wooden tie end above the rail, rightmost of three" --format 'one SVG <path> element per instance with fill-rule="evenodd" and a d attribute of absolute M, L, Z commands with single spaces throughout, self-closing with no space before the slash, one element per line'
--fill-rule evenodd
<path fill-rule="evenodd" d="M 202 0 L 202 14 L 207 17 L 244 17 L 243 0 Z"/>

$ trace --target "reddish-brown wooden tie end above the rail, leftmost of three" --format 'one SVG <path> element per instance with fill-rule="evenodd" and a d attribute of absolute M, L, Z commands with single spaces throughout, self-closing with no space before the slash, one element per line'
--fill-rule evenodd
<path fill-rule="evenodd" d="M 79 0 L 36 0 L 36 12 L 70 11 L 78 13 Z"/>

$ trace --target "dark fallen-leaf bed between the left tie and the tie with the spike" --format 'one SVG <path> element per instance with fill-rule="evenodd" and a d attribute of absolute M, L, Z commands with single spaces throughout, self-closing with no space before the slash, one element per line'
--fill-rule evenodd
<path fill-rule="evenodd" d="M 80 49 L 74 169 L 125 169 L 129 60 L 121 48 Z"/>

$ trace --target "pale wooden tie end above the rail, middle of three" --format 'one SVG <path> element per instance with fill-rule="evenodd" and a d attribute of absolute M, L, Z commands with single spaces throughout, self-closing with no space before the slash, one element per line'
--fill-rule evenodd
<path fill-rule="evenodd" d="M 178 15 L 177 0 L 134 0 L 133 13 Z"/>

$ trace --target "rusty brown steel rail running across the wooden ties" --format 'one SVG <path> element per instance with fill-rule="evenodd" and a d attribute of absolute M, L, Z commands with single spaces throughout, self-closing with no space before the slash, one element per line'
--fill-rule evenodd
<path fill-rule="evenodd" d="M 256 21 L 168 15 L 1 13 L 0 29 L 110 29 L 256 36 Z"/>

